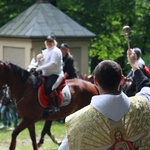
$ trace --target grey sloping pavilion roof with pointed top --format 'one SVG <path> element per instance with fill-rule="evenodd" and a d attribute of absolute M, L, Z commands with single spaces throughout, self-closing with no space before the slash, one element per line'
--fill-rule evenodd
<path fill-rule="evenodd" d="M 52 4 L 40 0 L 0 28 L 0 37 L 43 38 L 52 33 L 57 37 L 95 36 Z"/>

